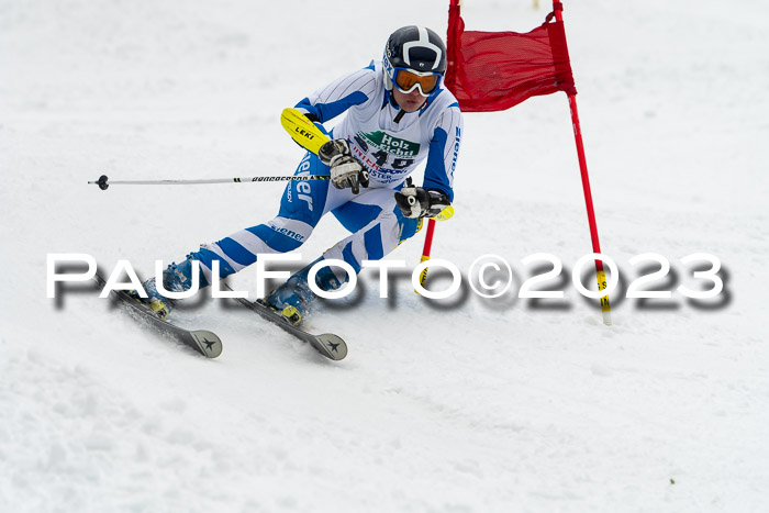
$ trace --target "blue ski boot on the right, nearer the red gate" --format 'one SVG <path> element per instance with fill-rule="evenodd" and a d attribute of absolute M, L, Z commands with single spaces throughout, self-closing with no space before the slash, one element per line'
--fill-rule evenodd
<path fill-rule="evenodd" d="M 302 270 L 292 275 L 283 285 L 275 289 L 265 299 L 257 301 L 278 312 L 289 324 L 299 326 L 308 314 L 310 303 L 315 299 L 315 293 L 310 289 L 310 285 L 308 283 L 310 268 L 322 259 L 323 257 L 319 258 Z M 334 271 L 328 267 L 321 268 L 315 275 L 315 285 L 321 290 L 336 290 L 342 287 L 342 283 L 343 282 L 339 281 L 336 275 L 334 275 Z"/>

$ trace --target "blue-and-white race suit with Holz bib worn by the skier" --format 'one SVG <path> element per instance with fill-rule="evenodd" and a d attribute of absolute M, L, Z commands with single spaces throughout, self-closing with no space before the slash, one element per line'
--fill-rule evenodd
<path fill-rule="evenodd" d="M 330 180 L 289 182 L 275 219 L 205 244 L 192 255 L 201 261 L 209 283 L 212 260 L 220 260 L 224 277 L 256 261 L 257 254 L 297 249 L 327 212 L 352 234 L 326 250 L 324 258 L 343 259 L 359 272 L 363 260 L 382 258 L 416 233 L 419 220 L 403 216 L 394 191 L 425 159 L 423 187 L 454 198 L 462 116 L 448 90 L 441 88 L 421 110 L 402 113 L 395 122 L 400 108 L 384 88 L 381 63 L 371 63 L 296 107 L 317 120 L 321 129 L 322 123 L 346 113 L 330 135 L 348 141 L 353 155 L 368 169 L 370 183 L 354 194 L 350 189 L 336 189 Z M 330 175 L 330 169 L 308 153 L 296 175 Z M 344 271 L 335 272 L 345 281 Z"/>

